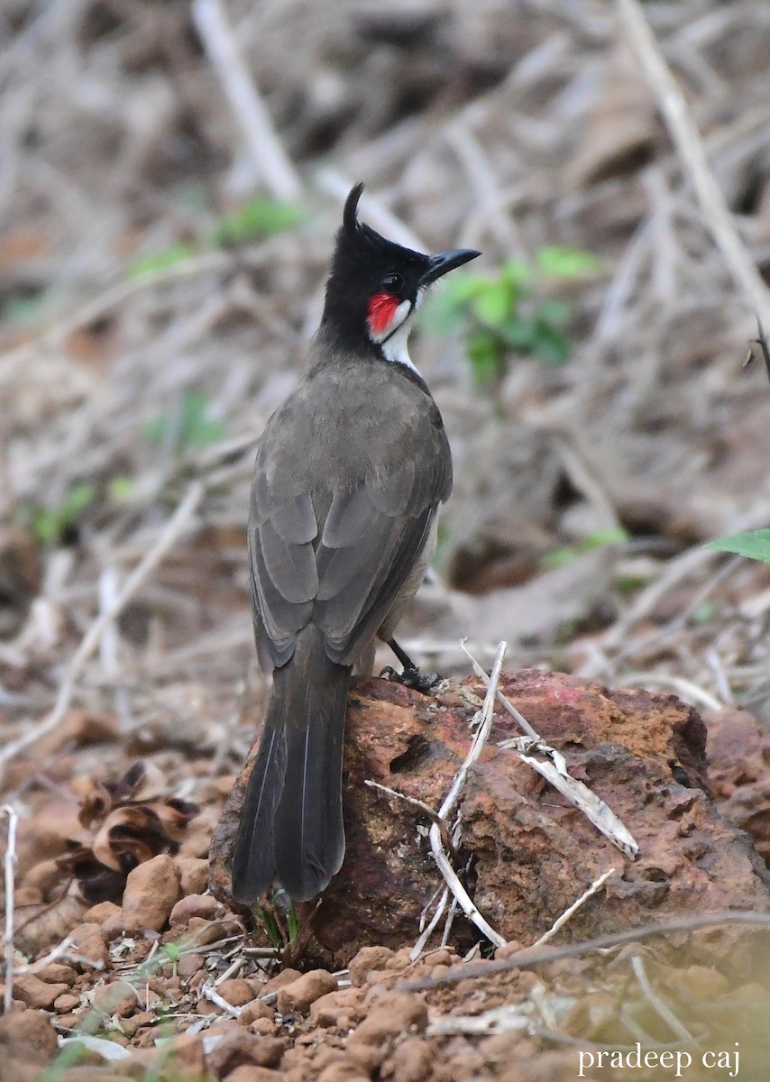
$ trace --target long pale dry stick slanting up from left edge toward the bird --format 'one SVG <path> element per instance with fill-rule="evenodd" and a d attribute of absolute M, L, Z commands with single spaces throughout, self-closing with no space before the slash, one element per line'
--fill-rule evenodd
<path fill-rule="evenodd" d="M 23 736 L 6 744 L 5 748 L 0 751 L 0 781 L 2 780 L 6 763 L 41 737 L 48 736 L 48 734 L 52 733 L 59 724 L 69 707 L 78 677 L 80 676 L 85 662 L 98 646 L 105 631 L 109 628 L 112 620 L 115 620 L 121 612 L 127 602 L 134 596 L 145 579 L 147 579 L 155 570 L 174 542 L 178 539 L 185 526 L 195 514 L 198 504 L 203 498 L 204 491 L 205 487 L 202 481 L 192 481 L 187 489 L 184 500 L 171 516 L 165 527 L 161 530 L 160 536 L 150 551 L 144 559 L 136 565 L 134 570 L 128 577 L 122 590 L 116 594 L 111 605 L 99 612 L 89 630 L 85 632 L 80 641 L 80 646 L 75 651 L 75 656 L 69 663 L 69 671 L 58 689 L 58 696 L 56 697 L 56 702 L 51 713 L 48 714 L 38 725 L 30 726 Z"/>

